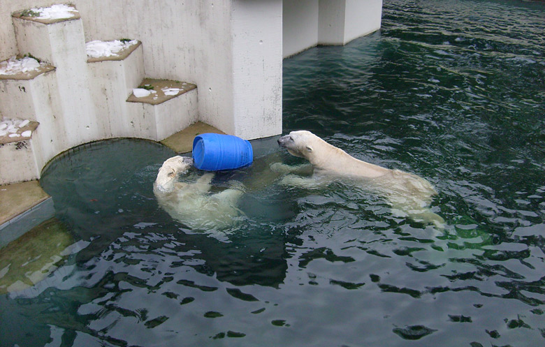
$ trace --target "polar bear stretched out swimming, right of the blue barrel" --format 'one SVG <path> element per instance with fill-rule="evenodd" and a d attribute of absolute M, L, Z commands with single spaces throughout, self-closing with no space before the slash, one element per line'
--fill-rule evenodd
<path fill-rule="evenodd" d="M 358 160 L 310 131 L 292 131 L 279 138 L 278 144 L 289 154 L 307 159 L 313 169 L 312 177 L 301 177 L 293 172 L 300 172 L 303 166 L 273 164 L 272 170 L 291 173 L 282 179 L 282 184 L 312 188 L 344 178 L 384 196 L 396 212 L 402 212 L 414 221 L 444 227 L 444 219 L 428 208 L 437 192 L 426 179 Z"/>

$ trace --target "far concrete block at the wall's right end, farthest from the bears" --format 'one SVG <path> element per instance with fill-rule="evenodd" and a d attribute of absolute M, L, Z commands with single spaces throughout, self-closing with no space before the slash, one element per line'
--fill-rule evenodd
<path fill-rule="evenodd" d="M 319 0 L 318 43 L 345 45 L 380 29 L 382 0 Z"/>

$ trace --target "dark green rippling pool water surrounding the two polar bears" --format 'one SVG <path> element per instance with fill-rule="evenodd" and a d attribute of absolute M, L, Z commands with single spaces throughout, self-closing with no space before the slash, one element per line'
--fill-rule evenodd
<path fill-rule="evenodd" d="M 542 346 L 544 32 L 542 2 L 384 1 L 381 31 L 284 61 L 284 133 L 426 177 L 442 232 L 342 184 L 277 181 L 244 195 L 242 225 L 194 232 L 152 193 L 168 149 L 64 156 L 42 184 L 76 251 L 0 296 L 0 345 Z M 217 189 L 300 163 L 254 146 Z"/>

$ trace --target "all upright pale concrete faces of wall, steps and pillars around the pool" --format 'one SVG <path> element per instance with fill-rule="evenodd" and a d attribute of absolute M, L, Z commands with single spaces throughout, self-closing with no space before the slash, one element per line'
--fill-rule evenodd
<path fill-rule="evenodd" d="M 13 15 L 50 0 L 0 6 L 0 61 L 31 54 L 48 63 L 30 79 L 0 76 L 0 120 L 35 122 L 32 138 L 1 145 L 0 160 L 13 165 L 2 165 L 0 184 L 39 178 L 51 158 L 83 143 L 163 140 L 195 121 L 247 140 L 278 135 L 283 57 L 369 34 L 379 28 L 382 9 L 382 0 L 71 4 L 78 17 L 50 23 Z M 86 42 L 122 38 L 138 40 L 126 57 L 87 59 Z M 157 105 L 131 99 L 146 77 L 194 87 Z M 13 170 L 23 166 L 30 168 Z"/>

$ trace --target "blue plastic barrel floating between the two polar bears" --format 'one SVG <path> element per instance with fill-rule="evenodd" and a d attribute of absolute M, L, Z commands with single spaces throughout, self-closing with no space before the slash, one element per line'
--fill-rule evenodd
<path fill-rule="evenodd" d="M 193 140 L 193 159 L 199 170 L 232 170 L 251 165 L 254 150 L 237 136 L 205 133 Z"/>

